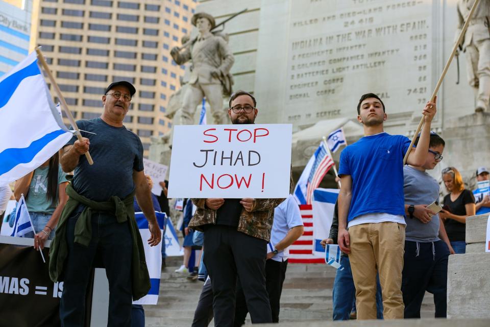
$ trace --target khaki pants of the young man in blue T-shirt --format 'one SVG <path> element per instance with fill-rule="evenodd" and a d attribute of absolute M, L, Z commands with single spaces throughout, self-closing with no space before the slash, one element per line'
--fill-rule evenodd
<path fill-rule="evenodd" d="M 349 228 L 357 319 L 376 319 L 376 270 L 384 319 L 403 319 L 402 270 L 405 225 L 366 223 Z"/>

